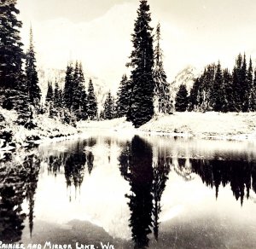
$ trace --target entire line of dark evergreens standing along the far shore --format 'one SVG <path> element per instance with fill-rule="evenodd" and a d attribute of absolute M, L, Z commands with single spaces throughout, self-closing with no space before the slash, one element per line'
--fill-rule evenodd
<path fill-rule="evenodd" d="M 15 109 L 18 125 L 35 127 L 33 118 L 38 113 L 49 113 L 50 118 L 75 125 L 79 120 L 113 119 L 125 117 L 135 127 L 147 123 L 154 114 L 184 111 L 253 112 L 256 111 L 256 72 L 252 60 L 238 55 L 232 72 L 218 64 L 206 67 L 201 77 L 195 78 L 190 92 L 181 85 L 174 100 L 167 83 L 161 49 L 160 24 L 150 26 L 148 1 L 141 0 L 137 19 L 131 33 L 132 50 L 126 66 L 130 76 L 123 75 L 117 97 L 108 92 L 99 110 L 94 85 L 90 79 L 85 90 L 81 63 L 67 65 L 65 83 L 49 82 L 45 106 L 38 84 L 36 53 L 32 29 L 27 52 L 22 50 L 17 20 L 16 0 L 0 4 L 0 105 Z M 60 86 L 64 84 L 64 88 Z M 175 103 L 175 106 L 173 106 Z M 0 118 L 3 117 L 0 115 Z"/>

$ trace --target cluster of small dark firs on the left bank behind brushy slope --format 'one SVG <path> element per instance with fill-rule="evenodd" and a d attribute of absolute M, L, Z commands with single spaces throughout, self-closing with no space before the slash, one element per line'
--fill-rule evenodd
<path fill-rule="evenodd" d="M 52 83 L 48 84 L 45 98 L 45 106 L 49 111 L 49 117 L 59 116 L 67 123 L 73 121 L 95 119 L 97 116 L 97 101 L 94 86 L 90 79 L 88 91 L 85 90 L 84 72 L 82 64 L 72 63 L 67 65 L 64 89 L 59 88 L 55 81 L 55 89 Z"/>

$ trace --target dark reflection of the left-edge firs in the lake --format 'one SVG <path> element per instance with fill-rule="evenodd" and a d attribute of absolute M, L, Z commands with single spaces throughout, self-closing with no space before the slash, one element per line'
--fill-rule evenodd
<path fill-rule="evenodd" d="M 9 156 L 0 162 L 0 169 L 0 240 L 17 242 L 21 239 L 27 216 L 32 234 L 40 160 L 35 154 L 27 155 L 24 159 Z M 28 214 L 21 208 L 25 199 L 29 204 Z"/>

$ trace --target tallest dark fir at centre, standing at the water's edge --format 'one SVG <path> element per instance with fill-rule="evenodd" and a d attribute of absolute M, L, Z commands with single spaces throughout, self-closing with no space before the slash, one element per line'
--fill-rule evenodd
<path fill-rule="evenodd" d="M 127 119 L 131 120 L 135 127 L 147 123 L 154 114 L 154 51 L 150 21 L 148 2 L 141 0 L 134 33 L 131 35 L 133 43 L 131 61 L 127 64 L 132 68 L 131 101 Z"/>

